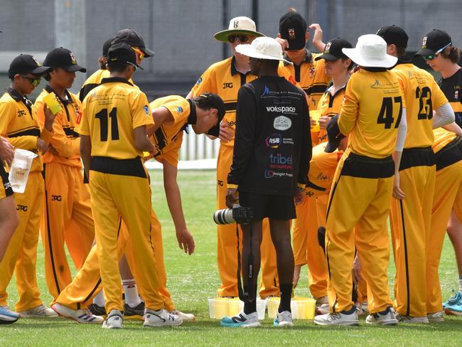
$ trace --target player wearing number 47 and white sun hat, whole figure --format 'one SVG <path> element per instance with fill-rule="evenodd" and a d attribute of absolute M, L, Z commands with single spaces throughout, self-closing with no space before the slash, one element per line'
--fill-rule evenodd
<path fill-rule="evenodd" d="M 406 136 L 406 111 L 399 81 L 387 70 L 397 58 L 386 50 L 387 43 L 377 35 L 360 36 L 355 48 L 343 48 L 361 68 L 348 82 L 338 119 L 338 134 L 349 138 L 333 179 L 326 221 L 328 285 L 335 296 L 329 292 L 331 313 L 315 317 L 319 325 L 359 324 L 352 301 L 355 248 L 373 297 L 366 322 L 397 324 L 388 288 L 387 216 L 392 193 L 404 198 L 397 168 Z"/>

